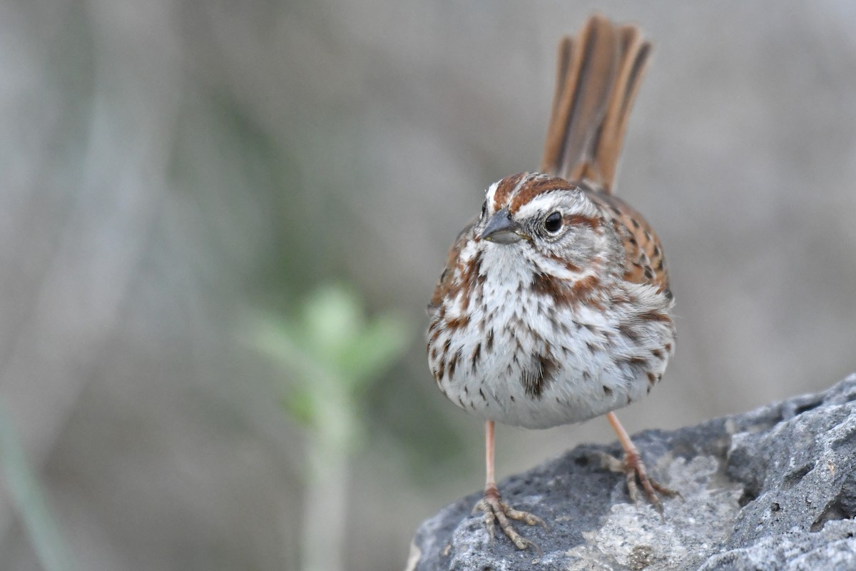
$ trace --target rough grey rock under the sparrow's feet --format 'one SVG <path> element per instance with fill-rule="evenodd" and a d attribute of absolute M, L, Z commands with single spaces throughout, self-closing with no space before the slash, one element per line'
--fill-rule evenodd
<path fill-rule="evenodd" d="M 582 445 L 500 483 L 515 508 L 549 531 L 518 523 L 544 550 L 490 541 L 471 516 L 480 492 L 426 520 L 407 571 L 440 569 L 767 571 L 856 569 L 856 374 L 817 395 L 678 431 L 633 437 L 649 472 L 683 498 L 665 520 L 628 503 L 620 474 Z M 524 529 L 525 528 L 525 529 Z"/>

